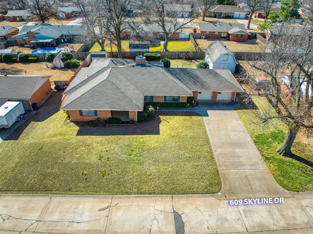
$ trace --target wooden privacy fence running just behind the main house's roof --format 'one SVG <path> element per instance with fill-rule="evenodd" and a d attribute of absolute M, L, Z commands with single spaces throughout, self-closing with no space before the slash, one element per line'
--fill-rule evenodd
<path fill-rule="evenodd" d="M 122 52 L 122 57 L 124 59 L 134 59 L 136 56 L 143 56 L 145 52 Z M 156 51 L 153 53 L 157 53 L 161 55 L 161 58 L 167 59 L 194 59 L 201 60 L 204 59 L 205 52 L 204 51 Z M 117 52 L 108 52 L 109 58 L 117 58 Z"/>

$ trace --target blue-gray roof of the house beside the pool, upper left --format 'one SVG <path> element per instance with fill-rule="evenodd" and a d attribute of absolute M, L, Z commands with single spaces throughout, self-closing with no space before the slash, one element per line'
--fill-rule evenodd
<path fill-rule="evenodd" d="M 81 25 L 50 25 L 39 24 L 32 26 L 23 26 L 20 33 L 13 36 L 13 38 L 26 37 L 27 31 L 34 32 L 35 35 L 41 35 L 45 38 L 57 39 L 61 35 L 82 35 L 84 33 L 84 27 Z M 43 38 L 41 38 L 43 39 Z"/>

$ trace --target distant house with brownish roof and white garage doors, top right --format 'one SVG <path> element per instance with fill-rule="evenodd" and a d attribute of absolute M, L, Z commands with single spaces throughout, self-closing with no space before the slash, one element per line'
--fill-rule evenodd
<path fill-rule="evenodd" d="M 203 12 L 200 11 L 201 16 Z M 207 13 L 206 17 L 216 18 L 232 18 L 232 19 L 246 19 L 247 12 L 238 6 L 234 5 L 212 5 Z"/>

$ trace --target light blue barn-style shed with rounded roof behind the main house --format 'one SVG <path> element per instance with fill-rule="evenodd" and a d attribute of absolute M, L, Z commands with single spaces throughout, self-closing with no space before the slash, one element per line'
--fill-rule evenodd
<path fill-rule="evenodd" d="M 210 69 L 227 69 L 231 73 L 235 72 L 238 64 L 233 53 L 220 41 L 212 42 L 205 49 L 205 61 Z"/>

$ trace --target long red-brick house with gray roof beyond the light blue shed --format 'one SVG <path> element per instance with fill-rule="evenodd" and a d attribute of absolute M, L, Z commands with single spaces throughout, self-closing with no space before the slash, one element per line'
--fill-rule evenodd
<path fill-rule="evenodd" d="M 249 32 L 243 23 L 198 23 L 197 33 L 201 39 L 227 39 L 234 42 L 246 42 Z"/>

